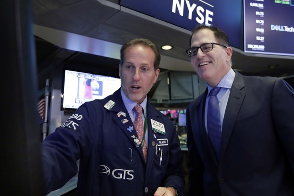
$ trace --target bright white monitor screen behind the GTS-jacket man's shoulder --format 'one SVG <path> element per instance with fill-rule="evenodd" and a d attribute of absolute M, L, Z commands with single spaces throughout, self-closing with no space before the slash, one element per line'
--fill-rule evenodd
<path fill-rule="evenodd" d="M 65 70 L 61 109 L 75 110 L 85 102 L 104 99 L 120 86 L 119 78 Z"/>

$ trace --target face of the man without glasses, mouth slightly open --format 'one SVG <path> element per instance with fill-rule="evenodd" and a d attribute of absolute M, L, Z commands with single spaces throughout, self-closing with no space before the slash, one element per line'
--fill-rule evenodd
<path fill-rule="evenodd" d="M 134 45 L 126 49 L 119 76 L 128 99 L 140 104 L 156 82 L 159 69 L 154 68 L 155 54 L 150 47 Z"/>

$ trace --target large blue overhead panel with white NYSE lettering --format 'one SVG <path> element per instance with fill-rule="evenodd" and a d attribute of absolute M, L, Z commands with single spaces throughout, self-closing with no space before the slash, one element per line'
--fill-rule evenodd
<path fill-rule="evenodd" d="M 120 5 L 190 31 L 198 24 L 215 25 L 237 48 L 243 41 L 242 0 L 121 0 Z"/>

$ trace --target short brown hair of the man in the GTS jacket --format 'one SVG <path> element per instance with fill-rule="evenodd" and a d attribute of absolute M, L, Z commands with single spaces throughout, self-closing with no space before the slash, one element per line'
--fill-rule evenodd
<path fill-rule="evenodd" d="M 153 52 L 155 54 L 154 69 L 157 70 L 159 68 L 161 56 L 160 56 L 157 45 L 149 39 L 134 38 L 134 39 L 130 39 L 130 40 L 126 41 L 120 50 L 120 64 L 122 65 L 124 62 L 126 49 L 128 47 L 135 46 L 135 45 L 143 45 L 146 47 L 150 47 L 153 50 Z"/>

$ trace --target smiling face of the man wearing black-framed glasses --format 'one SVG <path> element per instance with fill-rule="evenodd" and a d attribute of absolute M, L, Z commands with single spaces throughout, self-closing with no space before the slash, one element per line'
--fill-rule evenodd
<path fill-rule="evenodd" d="M 219 43 L 210 29 L 201 29 L 191 38 L 191 47 L 199 47 L 203 43 Z M 191 64 L 199 77 L 206 80 L 209 85 L 216 86 L 231 68 L 232 48 L 213 45 L 213 50 L 198 53 L 191 57 Z"/>

